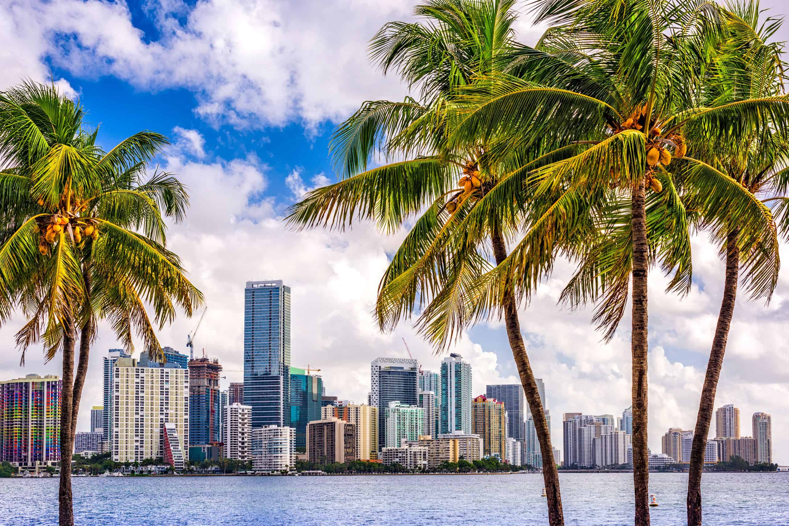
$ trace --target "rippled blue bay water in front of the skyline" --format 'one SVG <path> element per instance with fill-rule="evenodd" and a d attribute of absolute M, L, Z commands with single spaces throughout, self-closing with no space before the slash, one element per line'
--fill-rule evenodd
<path fill-rule="evenodd" d="M 685 524 L 686 474 L 652 473 L 652 524 Z M 546 524 L 539 474 L 73 479 L 77 524 Z M 633 524 L 630 473 L 561 475 L 567 524 Z M 0 524 L 55 524 L 58 479 L 0 479 Z M 789 474 L 705 475 L 705 526 L 789 524 Z"/>

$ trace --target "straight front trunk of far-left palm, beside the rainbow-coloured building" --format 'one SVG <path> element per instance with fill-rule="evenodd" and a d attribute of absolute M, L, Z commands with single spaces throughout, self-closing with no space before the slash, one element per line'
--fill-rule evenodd
<path fill-rule="evenodd" d="M 60 526 L 73 526 L 74 510 L 71 494 L 71 457 L 74 453 L 73 420 L 74 387 L 74 320 L 69 315 L 63 320 L 63 386 L 60 394 L 60 488 L 58 507 Z"/>

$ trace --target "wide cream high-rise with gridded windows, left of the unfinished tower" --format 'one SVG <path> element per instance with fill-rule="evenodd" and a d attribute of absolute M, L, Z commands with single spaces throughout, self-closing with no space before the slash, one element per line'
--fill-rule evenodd
<path fill-rule="evenodd" d="M 189 445 L 189 370 L 137 367 L 134 358 L 114 364 L 112 459 L 135 462 L 166 457 L 165 445 Z M 171 423 L 168 430 L 165 424 Z M 176 442 L 177 441 L 177 442 Z"/>

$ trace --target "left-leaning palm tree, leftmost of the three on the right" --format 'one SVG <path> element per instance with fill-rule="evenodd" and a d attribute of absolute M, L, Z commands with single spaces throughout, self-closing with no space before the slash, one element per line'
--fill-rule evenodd
<path fill-rule="evenodd" d="M 490 247 L 495 262 L 503 262 L 507 239 L 527 211 L 519 191 L 522 170 L 510 172 L 508 167 L 545 162 L 539 141 L 499 155 L 495 163 L 488 161 L 496 151 L 495 140 L 446 144 L 458 88 L 479 76 L 518 73 L 521 46 L 514 42 L 513 5 L 514 0 L 433 0 L 415 8 L 423 23 L 386 24 L 372 39 L 372 58 L 384 73 L 395 69 L 419 88 L 420 98 L 361 106 L 331 143 L 342 181 L 305 196 L 287 218 L 299 227 L 340 229 L 354 218 L 366 218 L 393 231 L 421 214 L 381 280 L 376 317 L 381 330 L 391 330 L 421 311 L 416 326 L 439 350 L 485 314 L 484 309 L 469 311 L 466 285 L 489 270 Z M 389 157 L 407 160 L 368 170 L 379 147 Z M 461 188 L 454 184 L 458 178 Z M 514 296 L 508 297 L 499 312 L 534 416 L 549 522 L 563 524 L 550 431 L 525 352 L 517 304 Z"/>

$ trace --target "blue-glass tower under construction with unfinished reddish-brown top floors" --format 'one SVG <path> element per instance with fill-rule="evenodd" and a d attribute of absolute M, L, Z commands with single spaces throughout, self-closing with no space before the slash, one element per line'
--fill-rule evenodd
<path fill-rule="evenodd" d="M 189 445 L 219 442 L 222 437 L 222 395 L 219 360 L 189 360 Z M 192 459 L 190 459 L 192 460 Z"/>

